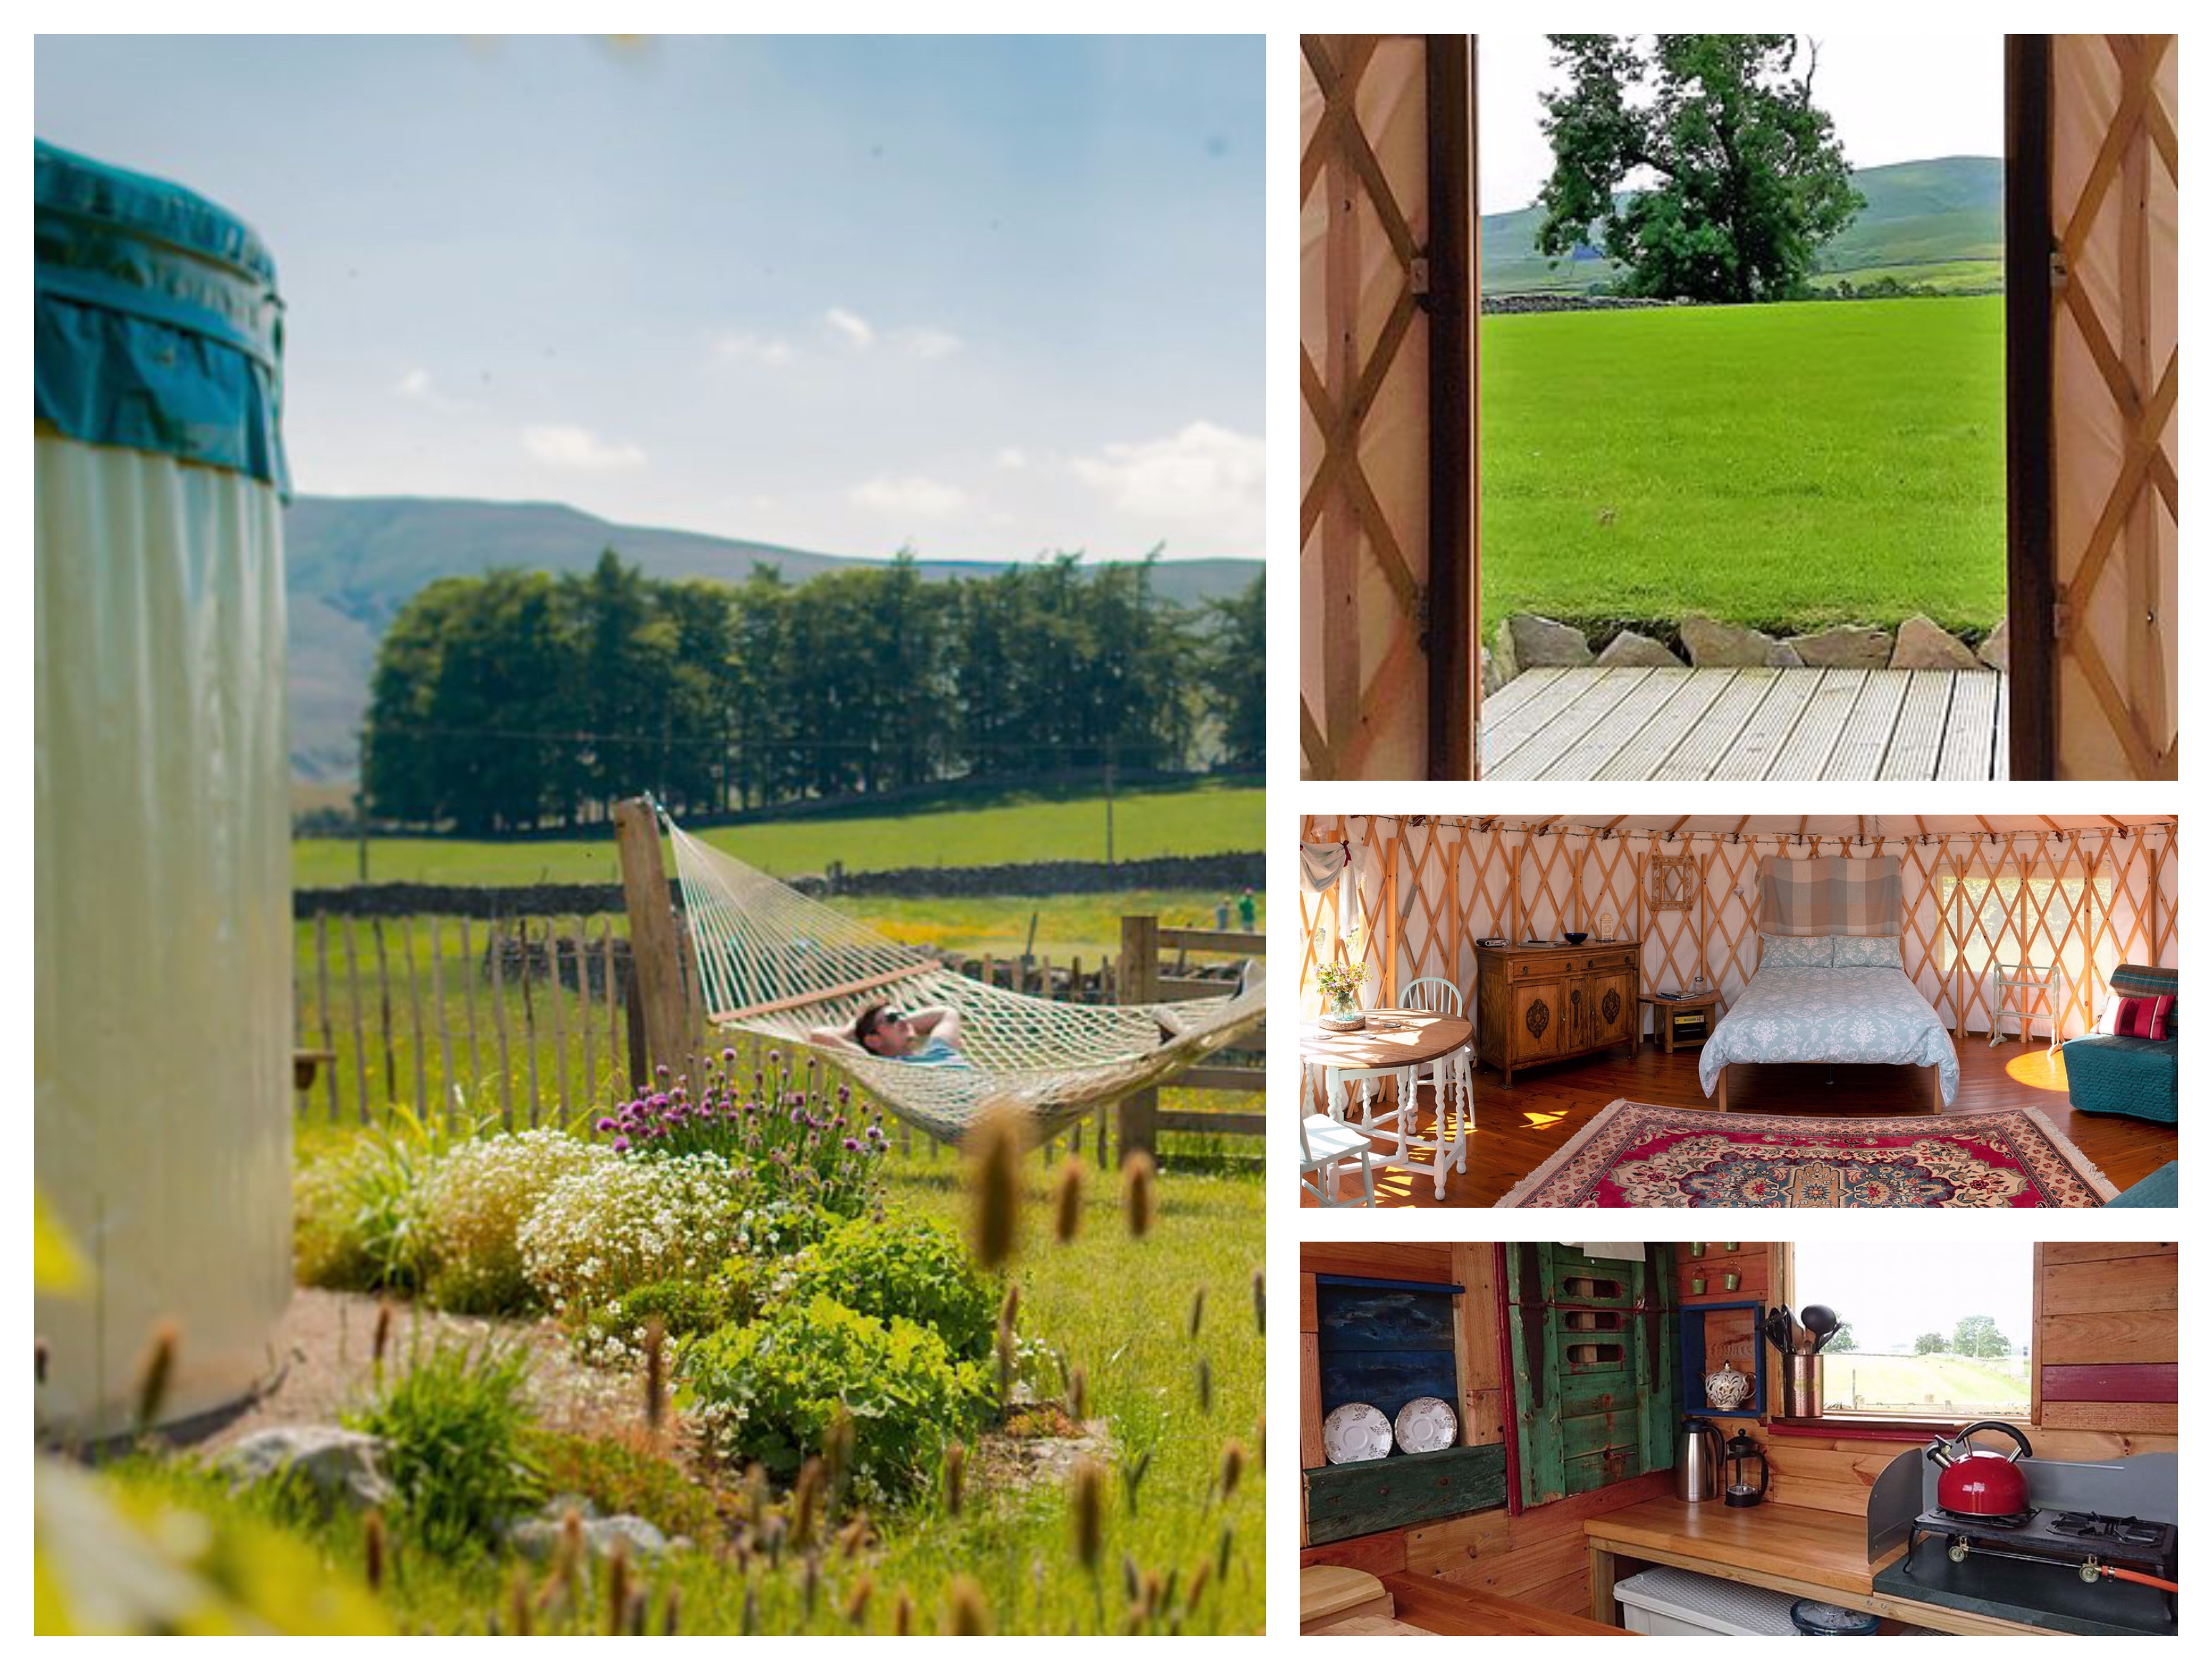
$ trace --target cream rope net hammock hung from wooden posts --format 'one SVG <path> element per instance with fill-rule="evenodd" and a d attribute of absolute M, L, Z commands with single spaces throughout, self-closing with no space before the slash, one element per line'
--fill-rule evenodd
<path fill-rule="evenodd" d="M 774 876 L 684 834 L 666 812 L 677 887 L 714 1026 L 807 1044 L 867 1004 L 960 1011 L 958 1064 L 827 1051 L 878 1102 L 958 1144 L 984 1106 L 1013 1104 L 1044 1141 L 1102 1102 L 1146 1090 L 1250 1033 L 1267 995 L 1161 1004 L 1075 1004 L 989 987 L 889 940 Z M 1172 1037 L 1161 1040 L 1161 1024 Z"/>

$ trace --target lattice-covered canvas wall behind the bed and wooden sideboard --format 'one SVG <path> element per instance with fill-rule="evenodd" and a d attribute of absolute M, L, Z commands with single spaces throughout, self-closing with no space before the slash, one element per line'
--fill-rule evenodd
<path fill-rule="evenodd" d="M 1601 821 L 1599 821 L 1601 823 Z M 1444 975 L 1464 993 L 1475 940 L 1599 933 L 1641 936 L 1644 989 L 1663 991 L 1703 973 L 1734 1002 L 1759 967 L 1761 856 L 1896 854 L 1905 871 L 1905 971 L 1944 1024 L 1989 1031 L 1995 969 L 2057 964 L 2066 978 L 2064 1035 L 2095 1026 L 2106 975 L 2121 962 L 2181 960 L 2179 825 L 2013 829 L 1949 834 L 1754 834 L 1699 829 L 1595 832 L 1584 821 L 1484 827 L 1475 818 L 1307 816 L 1305 841 L 1347 841 L 1356 889 L 1301 894 L 1298 993 L 1318 1013 L 1312 973 L 1336 953 L 1347 914 L 1356 949 L 1391 998 L 1409 980 Z M 1644 878 L 1655 856 L 1699 863 L 1697 907 L 1655 911 Z M 1396 933 L 1389 933 L 1396 922 Z M 1387 967 L 1387 973 L 1385 973 Z"/>

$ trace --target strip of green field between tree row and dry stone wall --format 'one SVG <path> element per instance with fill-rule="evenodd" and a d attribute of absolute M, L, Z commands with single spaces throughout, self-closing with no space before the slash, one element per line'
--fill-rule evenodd
<path fill-rule="evenodd" d="M 1113 801 L 1115 858 L 1168 858 L 1256 852 L 1267 792 L 1259 785 L 1199 783 L 1139 790 Z M 1044 858 L 1106 858 L 1106 801 L 1079 796 L 998 796 L 885 816 L 792 818 L 701 832 L 772 876 L 933 865 L 1009 865 Z M 352 841 L 292 843 L 294 887 L 361 880 Z M 615 883 L 613 836 L 591 841 L 369 841 L 369 880 L 478 887 L 535 883 Z"/>

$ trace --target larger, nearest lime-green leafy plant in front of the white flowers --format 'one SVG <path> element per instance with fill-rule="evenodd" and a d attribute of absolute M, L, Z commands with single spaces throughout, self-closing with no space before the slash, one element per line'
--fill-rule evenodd
<path fill-rule="evenodd" d="M 695 1340 L 679 1371 L 714 1447 L 779 1475 L 818 1455 L 847 1409 L 854 1484 L 887 1500 L 931 1484 L 945 1444 L 995 1409 L 989 1369 L 953 1358 L 936 1329 L 863 1316 L 825 1294 Z"/>

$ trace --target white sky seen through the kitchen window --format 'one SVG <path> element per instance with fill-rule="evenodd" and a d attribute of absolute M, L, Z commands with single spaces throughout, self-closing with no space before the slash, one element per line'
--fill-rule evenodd
<path fill-rule="evenodd" d="M 2026 1241 L 1798 1241 L 1798 1309 L 1827 1305 L 1863 1351 L 1911 1351 L 1962 1316 L 1997 1318 L 2017 1349 L 2028 1343 L 2033 1256 Z"/>

